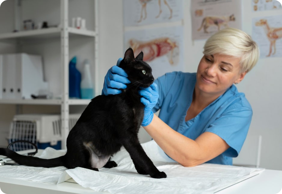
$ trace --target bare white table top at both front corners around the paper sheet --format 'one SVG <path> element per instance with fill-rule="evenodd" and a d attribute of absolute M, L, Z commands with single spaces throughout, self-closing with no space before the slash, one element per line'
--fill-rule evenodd
<path fill-rule="evenodd" d="M 76 183 L 47 184 L 0 177 L 0 188 L 4 193 L 100 193 Z M 282 189 L 282 171 L 264 170 L 259 175 L 218 191 L 216 194 L 276 194 Z"/>

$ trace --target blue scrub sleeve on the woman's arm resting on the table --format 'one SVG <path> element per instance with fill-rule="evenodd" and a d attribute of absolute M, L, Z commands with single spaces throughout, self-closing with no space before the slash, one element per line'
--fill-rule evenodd
<path fill-rule="evenodd" d="M 223 155 L 237 157 L 247 137 L 253 111 L 250 107 L 235 104 L 219 116 L 206 132 L 221 137 L 229 146 Z"/>

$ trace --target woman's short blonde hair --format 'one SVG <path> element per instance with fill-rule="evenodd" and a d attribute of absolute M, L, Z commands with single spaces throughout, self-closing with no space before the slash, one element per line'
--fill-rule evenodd
<path fill-rule="evenodd" d="M 249 72 L 259 59 L 257 43 L 248 34 L 236 28 L 225 28 L 213 34 L 206 41 L 203 53 L 241 58 L 241 72 Z"/>

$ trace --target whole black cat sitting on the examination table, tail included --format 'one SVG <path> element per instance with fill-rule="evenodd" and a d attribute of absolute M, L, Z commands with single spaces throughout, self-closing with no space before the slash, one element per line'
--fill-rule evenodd
<path fill-rule="evenodd" d="M 151 67 L 143 61 L 143 52 L 135 59 L 133 50 L 127 49 L 120 66 L 131 81 L 118 95 L 100 95 L 85 108 L 67 137 L 67 153 L 53 159 L 23 156 L 7 148 L 0 148 L 5 155 L 19 164 L 38 167 L 82 167 L 98 171 L 101 167 L 112 168 L 117 164 L 110 156 L 123 145 L 129 152 L 139 174 L 152 178 L 166 178 L 144 152 L 137 134 L 144 116 L 139 87 L 149 87 L 153 81 Z"/>

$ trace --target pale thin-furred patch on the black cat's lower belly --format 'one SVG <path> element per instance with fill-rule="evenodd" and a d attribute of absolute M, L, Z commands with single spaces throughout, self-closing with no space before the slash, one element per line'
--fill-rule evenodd
<path fill-rule="evenodd" d="M 89 162 L 92 168 L 102 168 L 108 162 L 110 156 L 102 155 L 92 143 L 85 143 L 83 145 L 90 153 Z"/>

